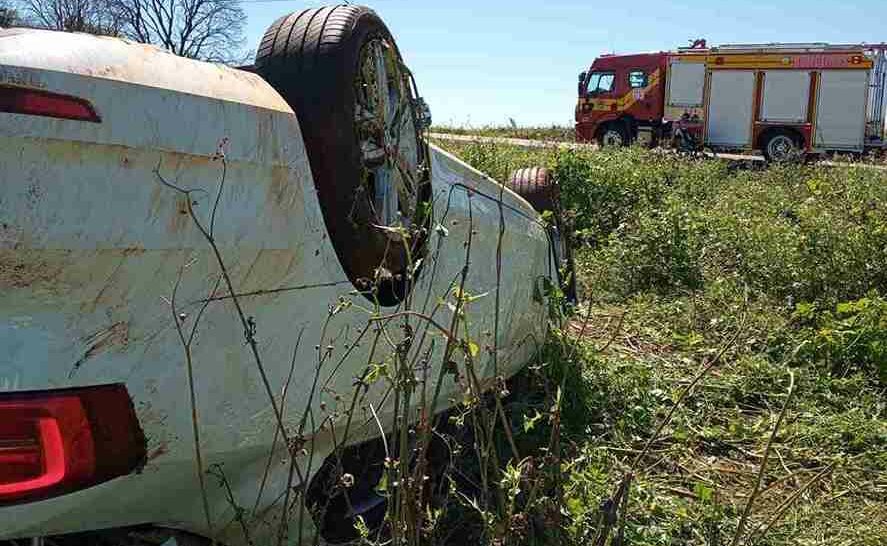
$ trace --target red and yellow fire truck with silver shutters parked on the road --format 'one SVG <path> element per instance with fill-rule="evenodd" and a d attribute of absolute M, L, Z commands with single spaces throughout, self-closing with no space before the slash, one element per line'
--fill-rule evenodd
<path fill-rule="evenodd" d="M 885 142 L 887 45 L 696 40 L 602 55 L 579 75 L 576 137 L 602 146 L 760 151 L 783 161 Z"/>

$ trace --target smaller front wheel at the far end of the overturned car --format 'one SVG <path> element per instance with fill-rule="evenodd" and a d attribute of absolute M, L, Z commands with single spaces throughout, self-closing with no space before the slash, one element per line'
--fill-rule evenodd
<path fill-rule="evenodd" d="M 576 275 L 573 264 L 573 233 L 561 208 L 560 188 L 551 171 L 544 167 L 518 169 L 511 173 L 508 188 L 520 195 L 540 214 L 553 213 L 553 225 L 549 232 L 559 264 L 561 290 L 569 301 L 576 301 Z"/>

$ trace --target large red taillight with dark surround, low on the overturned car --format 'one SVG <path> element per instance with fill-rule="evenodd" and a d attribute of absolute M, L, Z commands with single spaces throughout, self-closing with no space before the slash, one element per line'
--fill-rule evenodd
<path fill-rule="evenodd" d="M 89 487 L 144 460 L 145 438 L 122 385 L 0 393 L 0 505 Z"/>

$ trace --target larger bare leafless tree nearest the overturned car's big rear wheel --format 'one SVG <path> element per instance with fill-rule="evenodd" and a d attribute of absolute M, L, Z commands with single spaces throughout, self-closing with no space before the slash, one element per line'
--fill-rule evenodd
<path fill-rule="evenodd" d="M 176 55 L 236 63 L 243 59 L 246 14 L 239 0 L 110 0 L 123 33 Z"/>

